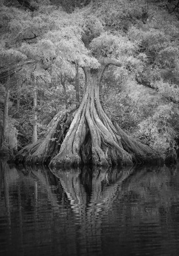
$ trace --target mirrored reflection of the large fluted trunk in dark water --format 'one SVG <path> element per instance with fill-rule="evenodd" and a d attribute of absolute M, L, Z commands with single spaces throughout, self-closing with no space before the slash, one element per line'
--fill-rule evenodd
<path fill-rule="evenodd" d="M 132 174 L 133 168 L 117 169 L 84 167 L 70 170 L 55 170 L 76 216 L 78 239 L 84 249 L 102 251 L 102 218 L 112 208 L 122 182 Z M 94 246 L 94 248 L 92 248 Z"/>

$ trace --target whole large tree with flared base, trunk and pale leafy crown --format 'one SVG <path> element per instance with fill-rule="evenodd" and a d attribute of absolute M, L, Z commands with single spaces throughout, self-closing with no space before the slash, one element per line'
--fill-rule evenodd
<path fill-rule="evenodd" d="M 77 18 L 75 19 L 77 23 Z M 31 156 L 26 161 L 51 160 L 51 166 L 79 165 L 81 162 L 105 166 L 161 160 L 147 146 L 129 138 L 117 125 L 115 127 L 100 103 L 100 82 L 106 67 L 115 65 L 126 70 L 135 69 L 140 61 L 131 57 L 131 49 L 123 56 L 125 46 L 119 47 L 119 42 L 124 40 L 122 36 L 103 32 L 102 23 L 96 17 L 88 16 L 82 25 L 82 37 L 79 35 L 71 38 L 68 34 L 70 39 L 64 38 L 67 49 L 65 46 L 63 48 L 66 59 L 71 63 L 78 61 L 85 73 L 86 86 L 81 104 L 75 113 L 64 115 L 64 120 L 59 118 L 59 114 L 54 118 L 45 140 L 38 147 L 34 145 L 35 152 L 32 146 Z M 67 26 L 65 34 L 68 31 L 71 34 L 71 29 Z M 74 45 L 76 47 L 72 47 Z M 71 54 L 68 48 L 72 48 Z M 80 48 L 83 51 L 79 51 Z"/>

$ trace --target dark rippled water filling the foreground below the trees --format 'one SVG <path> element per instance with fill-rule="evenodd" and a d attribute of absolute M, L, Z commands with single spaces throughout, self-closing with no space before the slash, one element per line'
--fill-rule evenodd
<path fill-rule="evenodd" d="M 0 256 L 179 255 L 179 166 L 0 168 Z"/>

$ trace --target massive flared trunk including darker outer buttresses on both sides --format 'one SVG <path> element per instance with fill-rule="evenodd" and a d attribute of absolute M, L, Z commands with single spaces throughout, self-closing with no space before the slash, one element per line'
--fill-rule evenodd
<path fill-rule="evenodd" d="M 102 109 L 99 91 L 105 67 L 83 68 L 86 88 L 80 107 L 63 116 L 57 115 L 51 121 L 45 140 L 31 149 L 22 149 L 16 159 L 27 151 L 26 162 L 50 162 L 50 167 L 66 168 L 81 163 L 108 166 L 163 162 L 150 148 L 114 126 Z"/>

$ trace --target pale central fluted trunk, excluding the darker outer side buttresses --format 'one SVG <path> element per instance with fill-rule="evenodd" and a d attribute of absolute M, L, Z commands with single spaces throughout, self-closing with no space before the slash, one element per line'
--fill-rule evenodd
<path fill-rule="evenodd" d="M 132 164 L 132 156 L 121 145 L 121 138 L 104 113 L 100 98 L 100 81 L 104 67 L 88 69 L 83 100 L 58 155 L 50 166 L 79 165 L 92 162 L 95 165 Z"/>

